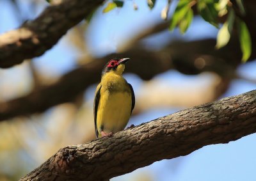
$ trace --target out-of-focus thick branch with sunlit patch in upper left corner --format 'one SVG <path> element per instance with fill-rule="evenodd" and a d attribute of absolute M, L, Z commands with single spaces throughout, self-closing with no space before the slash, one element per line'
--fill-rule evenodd
<path fill-rule="evenodd" d="M 0 67 L 8 68 L 51 49 L 68 29 L 88 16 L 104 0 L 63 0 L 49 6 L 35 20 L 0 36 Z"/>

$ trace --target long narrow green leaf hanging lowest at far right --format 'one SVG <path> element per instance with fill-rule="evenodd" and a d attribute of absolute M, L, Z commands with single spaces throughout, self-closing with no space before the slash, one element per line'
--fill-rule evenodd
<path fill-rule="evenodd" d="M 246 62 L 252 54 L 251 36 L 243 20 L 237 19 L 237 26 L 238 26 L 240 48 L 241 48 L 241 51 L 243 52 L 242 61 Z"/>

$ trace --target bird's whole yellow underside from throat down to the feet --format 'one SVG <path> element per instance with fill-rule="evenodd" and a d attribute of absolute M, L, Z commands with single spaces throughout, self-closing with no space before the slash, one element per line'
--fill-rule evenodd
<path fill-rule="evenodd" d="M 97 111 L 97 129 L 104 132 L 123 130 L 131 116 L 131 89 L 122 75 L 109 72 L 102 77 Z"/>

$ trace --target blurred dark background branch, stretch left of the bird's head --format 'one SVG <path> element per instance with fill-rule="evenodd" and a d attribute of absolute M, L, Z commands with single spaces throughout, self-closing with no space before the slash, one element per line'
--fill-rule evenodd
<path fill-rule="evenodd" d="M 37 88 L 29 95 L 0 103 L 0 120 L 43 112 L 51 106 L 74 100 L 86 87 L 100 80 L 101 67 L 90 65 L 68 72 L 57 83 Z M 57 92 L 60 95 L 56 95 Z"/>

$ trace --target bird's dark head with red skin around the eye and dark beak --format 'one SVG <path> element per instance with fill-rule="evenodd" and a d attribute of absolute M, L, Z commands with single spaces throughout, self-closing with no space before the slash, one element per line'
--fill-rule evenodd
<path fill-rule="evenodd" d="M 122 74 L 124 72 L 125 63 L 129 61 L 129 58 L 114 58 L 111 59 L 103 68 L 102 76 L 108 72 L 114 71 L 116 74 Z"/>

